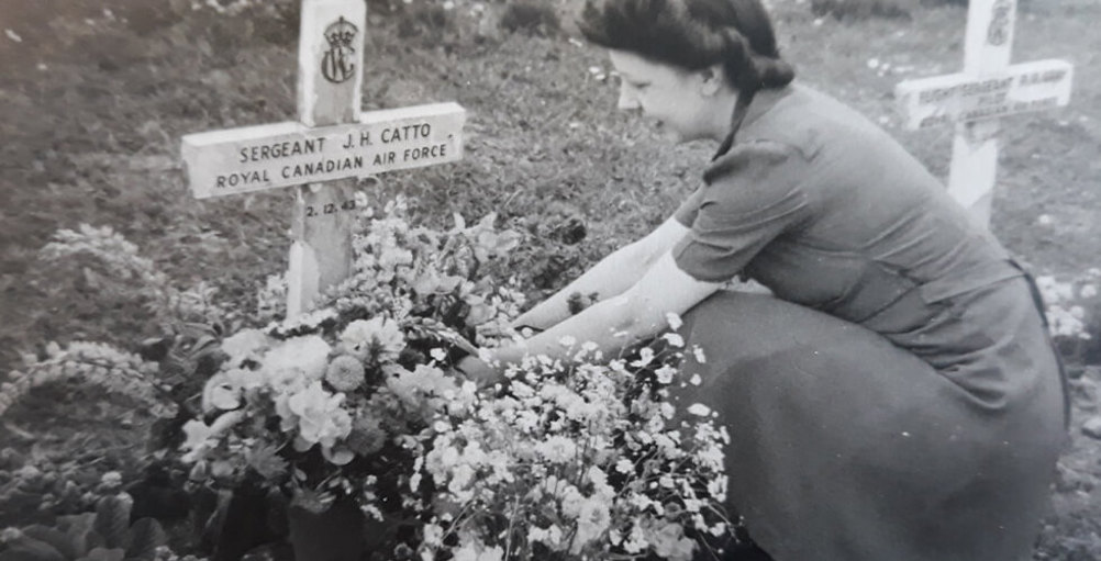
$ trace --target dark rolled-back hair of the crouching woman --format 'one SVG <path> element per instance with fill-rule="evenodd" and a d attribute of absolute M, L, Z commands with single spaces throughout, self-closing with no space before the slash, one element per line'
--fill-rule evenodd
<path fill-rule="evenodd" d="M 739 95 L 716 158 L 733 146 L 756 92 L 795 78 L 760 0 L 587 0 L 578 24 L 598 45 L 658 63 L 688 70 L 721 64 Z"/>

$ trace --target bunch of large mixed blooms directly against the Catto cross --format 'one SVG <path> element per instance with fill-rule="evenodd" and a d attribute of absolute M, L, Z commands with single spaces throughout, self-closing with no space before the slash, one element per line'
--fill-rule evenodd
<path fill-rule="evenodd" d="M 183 426 L 194 481 L 277 488 L 315 512 L 340 497 L 378 518 L 402 507 L 417 438 L 471 384 L 445 371 L 523 301 L 488 276 L 520 234 L 492 216 L 412 228 L 404 212 L 367 218 L 357 272 L 325 306 L 221 341 L 201 414 Z"/>

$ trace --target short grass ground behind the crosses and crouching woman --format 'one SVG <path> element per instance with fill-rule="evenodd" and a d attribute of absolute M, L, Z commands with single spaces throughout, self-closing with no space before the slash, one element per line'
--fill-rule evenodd
<path fill-rule="evenodd" d="M 709 146 L 669 146 L 615 112 L 617 84 L 598 78 L 609 69 L 598 50 L 550 24 L 534 36 L 506 33 L 492 19 L 498 3 L 481 14 L 466 1 L 455 10 L 383 3 L 371 2 L 366 107 L 456 100 L 469 118 L 462 162 L 363 182 L 374 200 L 406 194 L 428 220 L 498 211 L 537 230 L 550 239 L 549 253 L 533 251 L 521 273 L 549 289 L 659 223 L 697 185 Z M 186 4 L 6 4 L 0 28 L 21 41 L 0 36 L 0 371 L 50 340 L 132 346 L 159 333 L 141 301 L 106 298 L 79 264 L 36 258 L 57 229 L 111 226 L 181 286 L 210 282 L 242 307 L 285 268 L 290 191 L 197 201 L 184 185 L 178 143 L 190 132 L 294 118 L 296 15 L 217 18 Z M 776 0 L 772 10 L 800 80 L 883 123 L 947 176 L 951 130 L 900 130 L 892 91 L 903 79 L 961 67 L 962 8 L 911 9 L 909 19 L 890 20 L 819 16 L 799 0 Z M 1003 121 L 992 228 L 1044 273 L 1101 266 L 1098 16 L 1095 2 L 1032 0 L 1016 28 L 1015 61 L 1076 66 L 1069 108 Z M 568 20 L 562 26 L 569 30 Z M 555 243 L 578 224 L 587 232 L 580 243 Z M 62 405 L 80 406 L 77 398 Z M 56 424 L 30 407 L 8 421 L 21 431 Z M 95 430 L 106 433 L 110 424 Z M 0 428 L 4 441 L 31 446 L 12 435 Z M 1037 559 L 1101 557 L 1093 491 L 1101 469 L 1090 443 L 1076 437 L 1064 462 L 1078 479 L 1057 494 Z"/>

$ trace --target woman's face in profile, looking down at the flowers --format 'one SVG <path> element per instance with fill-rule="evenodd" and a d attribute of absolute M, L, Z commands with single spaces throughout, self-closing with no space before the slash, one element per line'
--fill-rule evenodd
<path fill-rule="evenodd" d="M 612 66 L 620 75 L 619 109 L 641 111 L 668 131 L 675 142 L 709 139 L 716 135 L 715 94 L 721 77 L 690 72 L 653 62 L 628 51 L 609 51 Z M 721 139 L 720 139 L 721 140 Z"/>

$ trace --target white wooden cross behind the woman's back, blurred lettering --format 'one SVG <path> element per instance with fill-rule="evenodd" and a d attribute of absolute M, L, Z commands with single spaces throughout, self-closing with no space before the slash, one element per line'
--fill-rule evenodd
<path fill-rule="evenodd" d="M 1010 65 L 1016 0 L 969 0 L 963 72 L 895 87 L 908 129 L 956 125 L 948 191 L 990 223 L 1000 119 L 1070 102 L 1073 67 L 1047 59 Z"/>

